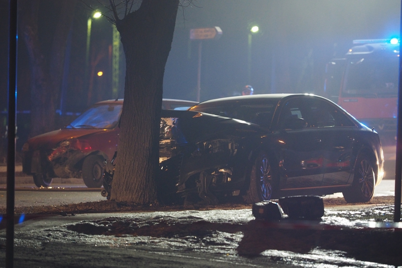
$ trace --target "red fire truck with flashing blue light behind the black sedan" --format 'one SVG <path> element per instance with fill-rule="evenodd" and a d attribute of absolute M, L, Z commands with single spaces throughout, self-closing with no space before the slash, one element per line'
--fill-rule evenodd
<path fill-rule="evenodd" d="M 398 113 L 399 39 L 354 40 L 344 58 L 326 68 L 324 95 L 395 144 Z"/>

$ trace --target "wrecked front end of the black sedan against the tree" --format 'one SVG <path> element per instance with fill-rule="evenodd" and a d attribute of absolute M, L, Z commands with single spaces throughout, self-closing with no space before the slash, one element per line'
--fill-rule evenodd
<path fill-rule="evenodd" d="M 161 199 L 179 196 L 188 202 L 217 203 L 221 197 L 239 195 L 253 147 L 245 137 L 256 130 L 246 122 L 238 129 L 242 126 L 238 120 L 216 115 L 183 111 L 165 116 L 157 182 Z"/>

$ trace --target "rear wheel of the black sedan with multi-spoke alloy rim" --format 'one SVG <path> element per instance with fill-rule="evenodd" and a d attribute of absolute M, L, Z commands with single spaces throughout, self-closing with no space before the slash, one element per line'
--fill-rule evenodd
<path fill-rule="evenodd" d="M 358 156 L 352 186 L 342 192 L 348 203 L 364 203 L 371 200 L 374 194 L 375 174 L 371 159 L 361 154 Z"/>

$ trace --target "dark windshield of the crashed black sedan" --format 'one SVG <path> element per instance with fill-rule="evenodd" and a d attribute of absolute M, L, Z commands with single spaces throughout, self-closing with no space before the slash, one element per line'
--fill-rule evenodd
<path fill-rule="evenodd" d="M 261 104 L 230 103 L 217 104 L 218 106 L 213 106 L 214 104 L 196 105 L 190 111 L 240 119 L 269 128 L 277 102 L 277 100 L 264 100 Z"/>

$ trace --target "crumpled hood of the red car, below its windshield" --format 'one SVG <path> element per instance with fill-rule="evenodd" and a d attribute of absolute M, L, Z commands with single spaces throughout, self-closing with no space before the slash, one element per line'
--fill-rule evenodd
<path fill-rule="evenodd" d="M 30 150 L 51 149 L 59 142 L 79 138 L 88 134 L 106 131 L 106 129 L 59 129 L 35 136 L 28 140 Z"/>

